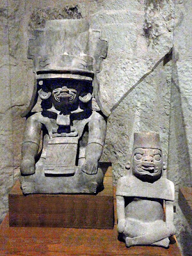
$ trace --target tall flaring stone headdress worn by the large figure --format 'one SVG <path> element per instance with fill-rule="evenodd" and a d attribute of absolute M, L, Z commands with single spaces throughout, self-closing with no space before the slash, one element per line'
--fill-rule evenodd
<path fill-rule="evenodd" d="M 49 20 L 44 29 L 35 30 L 35 39 L 29 40 L 28 58 L 33 60 L 37 81 L 49 78 L 68 78 L 93 81 L 93 93 L 100 110 L 109 111 L 100 99 L 97 73 L 106 58 L 108 42 L 100 39 L 100 31 L 90 29 L 87 20 Z M 29 108 L 36 104 L 36 81 Z"/>

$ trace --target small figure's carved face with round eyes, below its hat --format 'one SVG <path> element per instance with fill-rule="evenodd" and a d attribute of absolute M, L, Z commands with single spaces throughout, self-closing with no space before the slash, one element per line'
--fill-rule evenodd
<path fill-rule="evenodd" d="M 158 148 L 135 148 L 132 155 L 132 173 L 138 179 L 155 181 L 163 170 L 162 152 Z"/>

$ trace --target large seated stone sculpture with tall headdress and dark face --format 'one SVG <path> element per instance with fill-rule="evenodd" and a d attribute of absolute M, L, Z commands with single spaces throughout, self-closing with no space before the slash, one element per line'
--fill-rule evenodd
<path fill-rule="evenodd" d="M 97 72 L 108 44 L 86 20 L 49 20 L 29 40 L 35 90 L 28 117 L 21 184 L 28 193 L 96 193 L 108 111 L 102 106 Z M 33 112 L 37 99 L 41 111 Z M 42 134 L 42 147 L 40 145 Z"/>

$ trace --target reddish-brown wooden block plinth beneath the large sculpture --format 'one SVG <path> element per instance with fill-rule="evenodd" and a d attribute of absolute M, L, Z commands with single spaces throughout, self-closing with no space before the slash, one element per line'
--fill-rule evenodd
<path fill-rule="evenodd" d="M 11 227 L 112 228 L 114 225 L 112 170 L 97 195 L 24 196 L 17 182 L 9 195 Z"/>

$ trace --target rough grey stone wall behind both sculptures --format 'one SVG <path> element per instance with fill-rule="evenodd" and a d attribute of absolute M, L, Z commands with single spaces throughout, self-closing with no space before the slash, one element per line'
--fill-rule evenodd
<path fill-rule="evenodd" d="M 175 25 L 175 59 L 178 52 L 190 49 L 188 40 L 182 45 L 182 29 L 189 29 L 186 22 L 182 23 L 183 13 L 189 15 L 187 4 L 189 1 L 176 4 L 176 24 L 184 25 Z M 184 8 L 183 12 L 180 6 Z M 186 55 L 180 62 L 173 61 L 173 65 L 170 61 L 174 10 L 173 0 L 1 1 L 1 220 L 8 209 L 8 191 L 19 176 L 25 122 L 20 114 L 29 105 L 33 93 L 33 65 L 27 59 L 28 40 L 33 37 L 33 29 L 44 27 L 49 19 L 86 18 L 92 29 L 102 29 L 102 38 L 109 42 L 108 58 L 104 60 L 99 80 L 102 100 L 112 111 L 102 161 L 113 162 L 114 183 L 125 173 L 124 166 L 129 161 L 136 131 L 160 133 L 164 160 L 169 164 L 168 174 L 176 182 L 177 191 L 180 183 L 190 182 L 191 64 L 180 64 L 177 72 L 175 66 L 181 62 L 189 63 L 191 59 Z M 174 72 L 180 74 L 177 79 Z M 188 79 L 182 76 L 183 72 Z M 182 88 L 179 88 L 180 77 L 184 79 L 180 83 Z M 186 165 L 180 161 L 180 154 Z M 175 215 L 180 237 L 179 233 L 186 227 L 181 224 L 184 217 L 179 211 Z"/>

